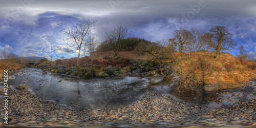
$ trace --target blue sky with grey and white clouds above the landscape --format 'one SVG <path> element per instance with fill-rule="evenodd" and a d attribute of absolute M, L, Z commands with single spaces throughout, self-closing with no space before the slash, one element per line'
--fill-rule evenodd
<path fill-rule="evenodd" d="M 255 0 L 0 0 L 0 51 L 48 59 L 56 54 L 75 57 L 58 47 L 63 45 L 61 30 L 81 19 L 98 20 L 93 36 L 99 41 L 119 25 L 150 41 L 173 38 L 181 26 L 225 26 L 256 59 Z"/>

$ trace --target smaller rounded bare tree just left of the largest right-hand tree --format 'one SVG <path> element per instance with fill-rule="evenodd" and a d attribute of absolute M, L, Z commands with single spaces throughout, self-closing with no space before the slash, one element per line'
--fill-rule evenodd
<path fill-rule="evenodd" d="M 190 31 L 188 31 L 184 28 L 181 28 L 180 30 L 174 31 L 173 39 L 169 39 L 174 46 L 178 47 L 180 56 L 182 56 L 182 51 L 184 50 L 184 48 L 188 49 L 189 44 L 195 42 L 195 34 L 194 33 L 195 32 L 192 29 Z"/>

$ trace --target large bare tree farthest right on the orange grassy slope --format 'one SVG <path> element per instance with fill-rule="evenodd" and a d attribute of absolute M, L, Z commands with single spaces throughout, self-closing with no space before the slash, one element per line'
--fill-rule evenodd
<path fill-rule="evenodd" d="M 216 26 L 206 33 L 207 42 L 216 49 L 216 59 L 220 58 L 221 50 L 230 51 L 237 46 L 237 42 L 232 39 L 232 34 L 224 26 Z"/>

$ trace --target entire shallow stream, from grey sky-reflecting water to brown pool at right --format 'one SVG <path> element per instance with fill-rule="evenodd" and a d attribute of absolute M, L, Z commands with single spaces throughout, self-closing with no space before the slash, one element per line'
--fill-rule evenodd
<path fill-rule="evenodd" d="M 47 74 L 43 74 L 44 72 L 36 68 L 20 69 L 9 76 L 8 82 L 13 89 L 15 89 L 15 86 L 27 85 L 29 90 L 38 98 L 70 108 L 85 110 L 123 108 L 137 102 L 147 90 L 168 95 L 175 100 L 182 100 L 188 103 L 208 103 L 216 107 L 221 105 L 220 103 L 216 105 L 215 102 L 212 102 L 214 100 L 212 97 L 215 97 L 215 95 L 203 92 L 177 94 L 174 91 L 174 84 L 163 79 L 163 77 L 143 77 L 140 79 L 139 77 L 115 76 L 111 78 L 83 79 L 50 73 L 49 71 L 46 71 Z M 256 82 L 252 84 L 252 88 L 256 88 Z M 230 95 L 232 94 L 230 93 Z M 223 95 L 221 96 L 224 97 Z"/>

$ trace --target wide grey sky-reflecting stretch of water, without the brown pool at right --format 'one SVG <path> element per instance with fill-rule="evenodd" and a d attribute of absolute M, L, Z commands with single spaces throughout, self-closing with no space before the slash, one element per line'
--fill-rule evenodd
<path fill-rule="evenodd" d="M 16 86 L 27 84 L 39 98 L 47 98 L 74 108 L 119 108 L 139 100 L 155 78 L 111 77 L 82 79 L 47 73 L 35 68 L 25 68 L 15 74 L 10 82 Z M 160 77 L 161 78 L 161 77 Z M 151 88 L 153 89 L 153 88 Z M 169 90 L 165 84 L 162 93 Z"/>

